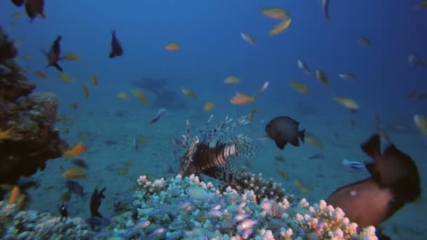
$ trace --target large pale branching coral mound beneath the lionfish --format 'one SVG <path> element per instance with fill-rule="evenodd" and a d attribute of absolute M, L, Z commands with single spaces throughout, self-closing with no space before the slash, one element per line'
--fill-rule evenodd
<path fill-rule="evenodd" d="M 127 214 L 112 220 L 112 236 L 137 239 L 376 239 L 375 228 L 357 234 L 357 224 L 341 208 L 324 201 L 310 206 L 306 199 L 291 204 L 261 199 L 251 190 L 227 187 L 195 175 L 149 180 L 138 178 L 134 206 L 136 219 Z"/>

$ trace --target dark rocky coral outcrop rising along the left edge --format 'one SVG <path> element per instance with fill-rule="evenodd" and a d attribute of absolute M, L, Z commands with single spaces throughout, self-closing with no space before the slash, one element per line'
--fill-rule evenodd
<path fill-rule="evenodd" d="M 54 129 L 58 98 L 32 93 L 35 86 L 13 59 L 17 53 L 12 48 L 0 28 L 0 184 L 15 184 L 20 176 L 43 170 L 67 147 Z"/>

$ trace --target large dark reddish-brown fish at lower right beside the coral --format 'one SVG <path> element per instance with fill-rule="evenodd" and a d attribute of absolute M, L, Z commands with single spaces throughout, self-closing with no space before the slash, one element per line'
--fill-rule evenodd
<path fill-rule="evenodd" d="M 380 137 L 372 135 L 361 147 L 372 157 L 366 164 L 371 177 L 336 189 L 327 203 L 342 208 L 358 230 L 379 225 L 402 206 L 421 196 L 419 172 L 414 161 L 390 145 L 380 152 Z"/>

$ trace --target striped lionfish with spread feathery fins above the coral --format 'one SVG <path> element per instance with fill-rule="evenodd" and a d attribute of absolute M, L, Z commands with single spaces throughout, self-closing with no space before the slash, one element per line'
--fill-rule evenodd
<path fill-rule="evenodd" d="M 187 134 L 181 136 L 185 154 L 180 158 L 179 173 L 183 176 L 205 174 L 227 183 L 235 174 L 232 159 L 239 156 L 248 161 L 254 155 L 251 138 L 233 134 L 235 128 L 249 124 L 249 121 L 247 116 L 235 120 L 227 116 L 208 130 L 212 118 L 213 115 L 209 116 L 204 127 L 193 136 L 187 119 Z"/>

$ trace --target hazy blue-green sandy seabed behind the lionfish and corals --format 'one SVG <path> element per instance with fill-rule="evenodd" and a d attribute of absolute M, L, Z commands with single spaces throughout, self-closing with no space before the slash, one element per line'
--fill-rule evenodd
<path fill-rule="evenodd" d="M 179 139 L 180 135 L 185 134 L 185 119 L 190 120 L 191 126 L 194 127 L 192 130 L 195 131 L 202 128 L 209 114 L 201 114 L 195 110 L 168 111 L 157 123 L 148 124 L 156 113 L 157 109 L 135 112 L 113 105 L 99 114 L 99 109 L 93 105 L 79 109 L 78 114 L 67 114 L 76 120 L 72 126 L 58 124 L 60 130 L 69 129 L 69 133 L 62 136 L 70 145 L 84 142 L 88 146 L 86 152 L 78 157 L 88 164 L 88 176 L 86 179 L 77 180 L 84 186 L 87 194 L 83 199 L 72 194 L 67 203 L 70 216 L 90 217 L 89 199 L 95 187 L 107 187 L 100 213 L 112 216 L 114 204 L 117 206 L 120 205 L 119 202 L 121 205 L 132 203 L 133 187 L 140 175 L 168 174 L 171 169 L 177 173 L 182 152 L 176 152 L 179 148 L 173 145 L 173 138 Z M 212 123 L 222 121 L 225 116 L 225 113 L 215 112 Z M 368 121 L 357 121 L 355 129 L 351 129 L 348 116 L 336 116 L 336 122 L 332 122 L 330 116 L 304 116 L 296 113 L 293 117 L 301 121 L 300 128 L 306 128 L 308 132 L 315 134 L 322 140 L 324 147 L 320 149 L 307 144 L 300 147 L 288 145 L 281 151 L 274 142 L 262 138 L 265 135 L 265 123 L 261 124 L 261 120 L 265 118 L 268 121 L 272 117 L 274 115 L 269 116 L 263 112 L 256 116 L 253 122 L 236 131 L 254 138 L 254 145 L 259 153 L 250 161 L 248 171 L 263 173 L 264 178 L 282 182 L 284 189 L 299 198 L 306 197 L 310 203 L 327 199 L 336 188 L 368 176 L 367 172 L 355 171 L 342 165 L 343 159 L 369 160 L 360 149 L 360 143 L 367 140 L 373 131 Z M 426 141 L 422 139 L 421 134 L 411 127 L 407 131 L 390 135 L 398 148 L 416 161 L 421 177 L 423 173 L 427 173 L 427 164 L 422 161 Z M 136 149 L 134 140 L 138 136 L 143 136 L 147 141 Z M 275 159 L 279 154 L 284 156 L 284 162 Z M 323 157 L 310 159 L 310 156 L 315 154 L 321 154 Z M 130 161 L 133 163 L 131 166 Z M 72 158 L 48 161 L 44 171 L 31 177 L 39 181 L 40 186 L 29 190 L 32 201 L 27 207 L 59 215 L 60 196 L 65 191 L 63 172 L 73 167 Z M 121 168 L 126 168 L 126 171 L 119 170 Z M 288 179 L 281 178 L 277 169 L 285 171 Z M 300 180 L 308 187 L 308 192 L 300 192 L 294 185 L 294 180 Z M 423 185 L 425 182 L 423 179 Z M 427 226 L 424 223 L 425 215 L 421 213 L 427 213 L 426 201 L 407 204 L 383 224 L 384 232 L 392 239 L 423 239 L 422 235 L 427 232 Z"/>

